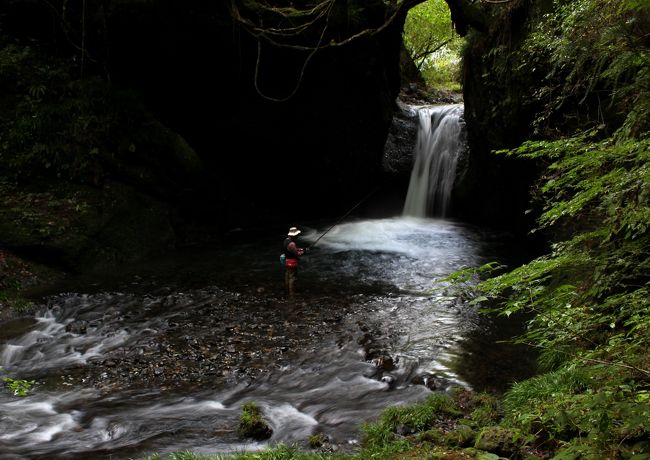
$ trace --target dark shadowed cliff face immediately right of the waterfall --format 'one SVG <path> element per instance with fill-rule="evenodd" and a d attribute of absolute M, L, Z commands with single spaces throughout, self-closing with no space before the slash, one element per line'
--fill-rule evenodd
<path fill-rule="evenodd" d="M 539 75 L 535 69 L 518 69 L 520 63 L 508 61 L 506 53 L 499 51 L 520 46 L 529 31 L 528 21 L 539 13 L 532 3 L 515 1 L 493 8 L 489 27 L 468 36 L 463 93 L 471 156 L 454 191 L 461 217 L 522 233 L 532 225 L 526 210 L 530 184 L 537 175 L 535 165 L 493 152 L 532 136 L 539 107 L 530 96 L 539 85 Z"/>

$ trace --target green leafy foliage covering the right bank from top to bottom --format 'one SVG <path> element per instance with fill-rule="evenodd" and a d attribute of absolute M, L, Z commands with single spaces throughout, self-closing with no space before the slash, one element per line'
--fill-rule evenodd
<path fill-rule="evenodd" d="M 541 76 L 532 101 L 546 139 L 500 153 L 543 168 L 533 232 L 550 250 L 442 282 L 487 313 L 532 315 L 516 341 L 540 350 L 547 373 L 513 386 L 502 423 L 553 458 L 650 458 L 647 7 L 554 1 L 521 46 L 501 42 L 486 59 L 491 80 Z"/>

